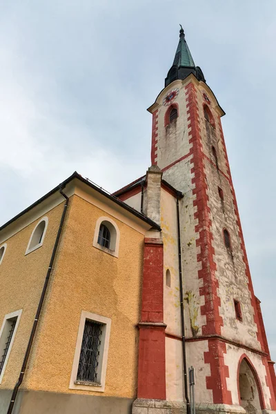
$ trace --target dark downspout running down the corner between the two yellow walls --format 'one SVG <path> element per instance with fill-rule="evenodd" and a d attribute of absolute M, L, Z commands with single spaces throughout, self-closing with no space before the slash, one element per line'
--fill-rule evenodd
<path fill-rule="evenodd" d="M 8 407 L 7 414 L 11 414 L 12 413 L 12 408 L 14 406 L 14 402 L 15 402 L 15 399 L 17 397 L 18 388 L 21 385 L 21 382 L 23 381 L 23 377 L 25 375 L 26 366 L 27 366 L 27 363 L 28 363 L 28 358 L 30 356 L 30 350 L 32 348 L 32 341 L 34 339 L 35 331 L 37 330 L 37 324 L 39 322 L 39 315 L 41 313 L 41 308 L 42 308 L 43 301 L 44 301 L 44 298 L 45 298 L 45 295 L 46 295 L 46 290 L 47 290 L 48 282 L 49 282 L 49 279 L 50 279 L 50 274 L 52 272 L 52 265 L 54 263 L 55 255 L 57 253 L 57 247 L 59 246 L 59 239 L 60 239 L 60 236 L 61 236 L 61 230 L 62 230 L 62 227 L 63 227 L 64 219 L 66 217 L 66 211 L 67 211 L 67 207 L 68 207 L 68 203 L 69 203 L 69 197 L 67 197 L 67 195 L 64 194 L 62 190 L 63 190 L 63 188 L 61 188 L 59 190 L 59 193 L 61 193 L 61 195 L 66 199 L 66 202 L 65 202 L 64 207 L 63 207 L 63 213 L 62 213 L 61 221 L 60 221 L 60 224 L 59 224 L 59 230 L 57 232 L 55 246 L 52 249 L 52 256 L 51 256 L 51 259 L 50 259 L 50 264 L 49 264 L 49 267 L 48 267 L 48 272 L 47 272 L 46 279 L 45 279 L 45 282 L 44 282 L 44 286 L 43 286 L 43 289 L 42 289 L 42 292 L 41 292 L 41 297 L 40 297 L 40 300 L 39 300 L 39 306 L 37 307 L 37 313 L 36 313 L 36 315 L 34 317 L 34 323 L 32 325 L 32 331 L 30 333 L 30 338 L 29 338 L 28 346 L 27 346 L 27 349 L 26 349 L 25 357 L 23 359 L 23 364 L 22 364 L 21 372 L 20 372 L 19 378 L 17 380 L 17 384 L 15 384 L 15 386 L 14 386 L 14 390 L 12 392 L 12 397 L 11 397 L 11 400 L 10 400 L 10 405 Z"/>

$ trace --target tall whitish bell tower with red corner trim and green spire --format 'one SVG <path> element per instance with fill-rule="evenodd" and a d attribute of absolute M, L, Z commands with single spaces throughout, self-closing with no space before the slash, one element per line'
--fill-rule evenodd
<path fill-rule="evenodd" d="M 274 411 L 275 372 L 230 174 L 221 127 L 225 113 L 195 66 L 182 28 L 165 88 L 148 111 L 152 165 L 184 194 L 179 200 L 183 340 L 186 366 L 195 367 L 197 412 Z M 180 322 L 166 319 L 174 295 L 164 299 L 166 358 L 172 349 L 178 355 L 181 342 Z M 179 302 L 174 306 L 179 315 Z M 181 363 L 166 360 L 166 400 L 185 401 L 183 380 Z"/>

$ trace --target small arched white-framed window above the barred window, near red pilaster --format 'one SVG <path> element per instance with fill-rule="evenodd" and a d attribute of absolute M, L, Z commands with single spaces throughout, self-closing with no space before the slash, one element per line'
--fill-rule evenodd
<path fill-rule="evenodd" d="M 117 224 L 109 217 L 99 217 L 95 226 L 93 246 L 118 257 L 120 232 Z"/>

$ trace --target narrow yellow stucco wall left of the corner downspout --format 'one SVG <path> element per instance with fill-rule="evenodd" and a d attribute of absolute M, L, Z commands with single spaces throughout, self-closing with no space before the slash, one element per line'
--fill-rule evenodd
<path fill-rule="evenodd" d="M 32 253 L 25 255 L 30 235 L 39 219 L 5 241 L 6 253 L 0 264 L 0 327 L 6 314 L 19 309 L 23 311 L 0 390 L 13 388 L 17 382 L 62 210 L 63 204 L 60 204 L 47 213 L 46 237 L 43 245 Z"/>

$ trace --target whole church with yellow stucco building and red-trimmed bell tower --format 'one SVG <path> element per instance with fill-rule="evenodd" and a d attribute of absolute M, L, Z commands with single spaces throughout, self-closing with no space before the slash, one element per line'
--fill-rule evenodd
<path fill-rule="evenodd" d="M 148 112 L 145 175 L 74 172 L 0 228 L 0 414 L 276 413 L 225 114 L 182 28 Z"/>

